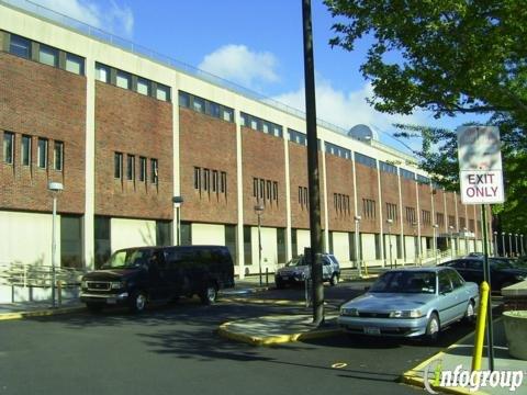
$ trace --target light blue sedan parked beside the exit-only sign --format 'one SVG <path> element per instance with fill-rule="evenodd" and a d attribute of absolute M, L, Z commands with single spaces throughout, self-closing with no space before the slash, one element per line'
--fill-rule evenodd
<path fill-rule="evenodd" d="M 345 303 L 338 324 L 354 335 L 424 337 L 433 342 L 451 323 L 473 321 L 478 301 L 478 285 L 453 269 L 394 269 Z"/>

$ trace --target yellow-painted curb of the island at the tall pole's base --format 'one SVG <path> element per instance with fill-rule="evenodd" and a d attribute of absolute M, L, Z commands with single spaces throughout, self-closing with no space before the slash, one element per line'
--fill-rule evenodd
<path fill-rule="evenodd" d="M 234 321 L 222 324 L 217 330 L 217 334 L 224 338 L 245 342 L 251 346 L 272 346 L 309 339 L 319 339 L 324 337 L 340 335 L 343 332 L 341 329 L 321 329 L 302 334 L 259 337 L 231 331 L 228 330 L 228 326 L 231 326 L 232 324 L 234 324 Z"/>

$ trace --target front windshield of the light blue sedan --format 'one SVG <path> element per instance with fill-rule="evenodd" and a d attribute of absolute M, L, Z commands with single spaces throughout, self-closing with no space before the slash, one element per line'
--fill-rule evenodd
<path fill-rule="evenodd" d="M 436 273 L 429 271 L 390 271 L 382 274 L 370 292 L 436 293 Z"/>

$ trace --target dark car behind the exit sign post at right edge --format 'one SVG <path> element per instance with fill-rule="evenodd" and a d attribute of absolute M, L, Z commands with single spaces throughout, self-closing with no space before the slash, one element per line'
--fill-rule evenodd
<path fill-rule="evenodd" d="M 520 269 L 502 258 L 489 258 L 491 271 L 491 290 L 501 291 L 503 287 L 515 284 L 527 279 L 527 269 Z M 466 281 L 472 281 L 478 284 L 483 282 L 483 259 L 482 258 L 461 258 L 444 262 L 446 266 L 456 269 Z"/>

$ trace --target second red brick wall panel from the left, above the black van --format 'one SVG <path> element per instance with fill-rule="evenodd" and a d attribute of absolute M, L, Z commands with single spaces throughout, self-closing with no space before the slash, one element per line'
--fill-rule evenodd
<path fill-rule="evenodd" d="M 114 153 L 123 153 L 123 180 L 114 178 Z M 173 216 L 172 105 L 96 82 L 96 214 L 171 219 Z M 126 180 L 126 154 L 135 156 L 135 182 Z M 148 159 L 139 182 L 139 156 Z M 158 185 L 150 182 L 158 160 Z"/>

